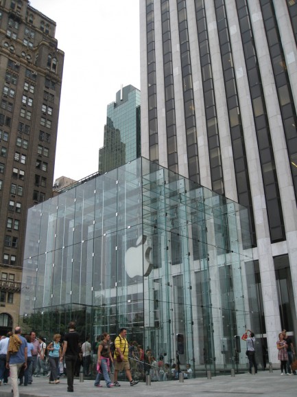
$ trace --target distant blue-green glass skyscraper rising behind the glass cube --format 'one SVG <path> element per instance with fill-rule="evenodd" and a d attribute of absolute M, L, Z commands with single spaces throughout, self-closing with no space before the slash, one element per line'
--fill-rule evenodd
<path fill-rule="evenodd" d="M 104 146 L 99 149 L 99 172 L 104 174 L 141 155 L 140 91 L 132 85 L 117 91 L 107 106 Z"/>

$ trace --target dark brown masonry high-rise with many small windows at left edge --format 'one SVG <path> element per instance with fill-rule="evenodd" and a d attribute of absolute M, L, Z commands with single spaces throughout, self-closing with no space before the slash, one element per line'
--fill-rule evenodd
<path fill-rule="evenodd" d="M 0 1 L 1 313 L 20 289 L 27 208 L 52 195 L 64 61 L 55 30 L 29 1 Z"/>

